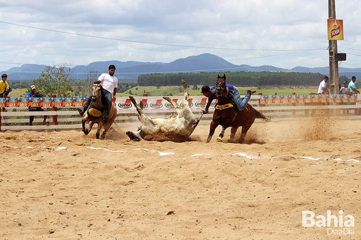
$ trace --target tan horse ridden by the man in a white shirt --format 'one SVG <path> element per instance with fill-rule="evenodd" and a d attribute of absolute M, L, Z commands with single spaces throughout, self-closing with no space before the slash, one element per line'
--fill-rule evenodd
<path fill-rule="evenodd" d="M 84 115 L 84 118 L 82 119 L 82 131 L 85 135 L 88 135 L 90 131 L 92 130 L 92 127 L 94 123 L 98 123 L 98 129 L 96 137 L 99 138 L 100 135 L 100 129 L 102 126 L 104 126 L 104 132 L 101 134 L 101 138 L 105 137 L 105 134 L 109 131 L 110 126 L 113 124 L 115 118 L 116 118 L 116 107 L 115 104 L 112 103 L 112 107 L 110 109 L 109 113 L 109 120 L 105 121 L 103 120 L 103 115 L 106 109 L 106 105 L 103 94 L 103 88 L 100 85 L 100 83 L 94 82 L 93 88 L 92 88 L 92 102 L 88 108 L 88 111 Z M 89 127 L 86 129 L 85 122 L 89 122 Z"/>

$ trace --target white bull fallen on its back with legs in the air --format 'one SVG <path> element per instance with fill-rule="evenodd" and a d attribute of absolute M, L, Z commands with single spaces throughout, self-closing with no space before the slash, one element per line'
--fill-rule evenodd
<path fill-rule="evenodd" d="M 178 114 L 177 116 L 172 115 L 169 119 L 149 118 L 142 110 L 142 102 L 140 102 L 140 106 L 138 106 L 135 102 L 135 99 L 129 96 L 131 102 L 134 104 L 139 113 L 138 119 L 143 124 L 138 128 L 138 131 L 128 131 L 126 133 L 131 138 L 131 140 L 140 141 L 146 136 L 148 136 L 148 138 L 146 139 L 149 140 L 174 140 L 176 142 L 179 142 L 185 141 L 185 138 L 188 138 L 193 133 L 194 129 L 197 127 L 200 118 L 199 120 L 197 120 L 191 109 L 189 108 L 187 83 L 184 80 L 182 80 L 182 83 L 184 88 L 183 108 L 181 108 L 181 106 L 178 105 L 176 102 L 172 101 L 169 97 L 163 97 L 174 106 L 174 109 Z M 154 136 L 158 136 L 158 138 L 153 138 Z"/>

